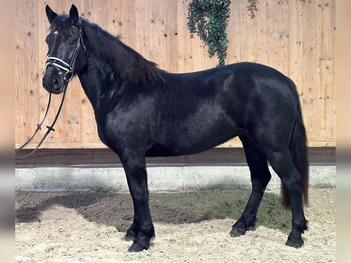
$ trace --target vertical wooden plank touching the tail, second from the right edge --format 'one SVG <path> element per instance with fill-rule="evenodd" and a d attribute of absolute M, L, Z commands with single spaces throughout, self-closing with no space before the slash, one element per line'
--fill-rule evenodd
<path fill-rule="evenodd" d="M 318 135 L 318 87 L 317 87 L 317 54 L 316 54 L 316 2 L 302 3 L 302 53 L 303 53 L 303 118 L 309 141 L 317 141 Z"/>

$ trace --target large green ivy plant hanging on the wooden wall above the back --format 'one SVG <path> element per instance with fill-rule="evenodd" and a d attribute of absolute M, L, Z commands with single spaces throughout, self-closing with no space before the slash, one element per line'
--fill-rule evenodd
<path fill-rule="evenodd" d="M 230 0 L 192 0 L 189 3 L 188 28 L 207 42 L 208 55 L 217 53 L 218 66 L 223 66 L 227 56 L 227 19 Z M 209 16 L 208 21 L 205 16 Z M 197 26 L 196 26 L 197 25 Z"/>

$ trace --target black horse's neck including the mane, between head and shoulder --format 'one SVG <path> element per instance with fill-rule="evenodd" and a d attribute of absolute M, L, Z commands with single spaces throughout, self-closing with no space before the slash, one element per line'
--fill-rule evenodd
<path fill-rule="evenodd" d="M 143 90 L 144 85 L 150 85 L 150 81 L 162 79 L 159 69 L 152 62 L 145 60 L 118 38 L 102 32 L 98 27 L 87 25 L 85 28 L 89 31 L 88 35 L 99 36 L 85 39 L 86 65 L 78 74 L 94 111 L 102 108 L 107 112 L 123 94 L 130 90 L 135 92 L 136 86 Z M 108 52 L 114 52 L 114 55 Z"/>

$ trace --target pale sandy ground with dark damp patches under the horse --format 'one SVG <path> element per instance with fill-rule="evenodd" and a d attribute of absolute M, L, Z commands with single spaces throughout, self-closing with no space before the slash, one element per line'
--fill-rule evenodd
<path fill-rule="evenodd" d="M 229 236 L 250 191 L 151 193 L 156 239 L 128 253 L 122 241 L 132 223 L 125 193 L 16 193 L 16 262 L 336 262 L 335 189 L 310 189 L 304 246 L 285 246 L 291 213 L 279 191 L 266 191 L 257 229 Z"/>

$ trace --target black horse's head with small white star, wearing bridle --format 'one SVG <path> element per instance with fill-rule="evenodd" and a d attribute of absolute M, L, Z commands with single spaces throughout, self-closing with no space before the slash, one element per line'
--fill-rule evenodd
<path fill-rule="evenodd" d="M 69 15 L 57 15 L 48 5 L 45 10 L 50 33 L 46 37 L 49 51 L 42 84 L 47 92 L 59 94 L 65 83 L 80 72 L 84 64 L 82 24 L 74 5 Z"/>

